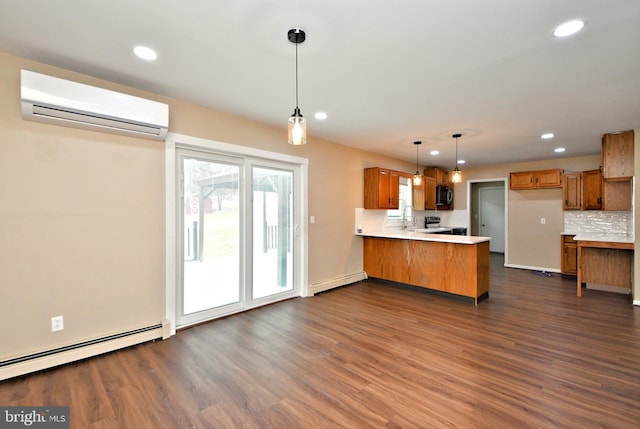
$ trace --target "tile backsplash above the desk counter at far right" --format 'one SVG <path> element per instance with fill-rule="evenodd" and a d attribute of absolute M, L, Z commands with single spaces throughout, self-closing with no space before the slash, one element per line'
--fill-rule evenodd
<path fill-rule="evenodd" d="M 564 232 L 633 234 L 633 212 L 565 211 Z"/>

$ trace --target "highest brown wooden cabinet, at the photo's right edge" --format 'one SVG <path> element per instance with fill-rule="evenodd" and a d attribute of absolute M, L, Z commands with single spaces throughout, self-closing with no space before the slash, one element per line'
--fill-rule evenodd
<path fill-rule="evenodd" d="M 602 136 L 602 178 L 624 180 L 633 177 L 633 130 Z"/>

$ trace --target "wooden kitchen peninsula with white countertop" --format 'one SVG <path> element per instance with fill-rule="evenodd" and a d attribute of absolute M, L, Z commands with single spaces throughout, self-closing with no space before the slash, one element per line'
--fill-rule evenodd
<path fill-rule="evenodd" d="M 368 277 L 472 298 L 489 296 L 490 237 L 413 231 L 358 233 L 363 236 Z"/>

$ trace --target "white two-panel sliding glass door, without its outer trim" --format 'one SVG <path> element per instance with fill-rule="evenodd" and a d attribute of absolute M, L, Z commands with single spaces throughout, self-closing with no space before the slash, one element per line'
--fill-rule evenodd
<path fill-rule="evenodd" d="M 299 294 L 297 167 L 176 151 L 177 326 Z"/>

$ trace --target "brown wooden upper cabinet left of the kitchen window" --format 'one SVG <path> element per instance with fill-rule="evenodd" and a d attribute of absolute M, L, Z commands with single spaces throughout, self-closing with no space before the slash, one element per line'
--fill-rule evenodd
<path fill-rule="evenodd" d="M 364 208 L 400 207 L 400 173 L 387 168 L 364 169 Z"/>

